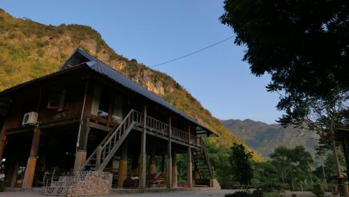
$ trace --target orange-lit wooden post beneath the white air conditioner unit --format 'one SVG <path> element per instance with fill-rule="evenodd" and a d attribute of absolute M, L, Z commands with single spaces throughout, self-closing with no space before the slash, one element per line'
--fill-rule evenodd
<path fill-rule="evenodd" d="M 30 155 L 28 158 L 27 168 L 25 168 L 22 188 L 31 189 L 34 180 L 34 173 L 36 167 L 36 157 L 38 156 L 38 149 L 40 143 L 40 129 L 34 129 L 33 142 L 31 143 Z"/>

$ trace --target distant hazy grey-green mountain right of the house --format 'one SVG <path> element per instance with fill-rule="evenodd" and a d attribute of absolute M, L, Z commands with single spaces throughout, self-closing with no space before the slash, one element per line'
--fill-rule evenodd
<path fill-rule="evenodd" d="M 281 145 L 286 147 L 303 145 L 307 151 L 314 154 L 314 145 L 319 138 L 315 132 L 299 133 L 293 126 L 283 128 L 279 124 L 266 124 L 251 119 L 227 119 L 222 123 L 235 136 L 242 138 L 248 147 L 265 157 L 269 156 L 275 147 Z"/>

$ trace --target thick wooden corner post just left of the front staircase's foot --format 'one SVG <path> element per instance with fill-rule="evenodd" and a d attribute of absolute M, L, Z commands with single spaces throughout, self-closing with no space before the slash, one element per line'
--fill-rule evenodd
<path fill-rule="evenodd" d="M 87 140 L 89 138 L 89 117 L 82 119 L 82 128 L 80 131 L 80 135 L 78 136 L 78 146 L 75 152 L 75 162 L 74 162 L 74 171 L 79 170 L 81 166 L 84 165 L 87 158 Z"/>

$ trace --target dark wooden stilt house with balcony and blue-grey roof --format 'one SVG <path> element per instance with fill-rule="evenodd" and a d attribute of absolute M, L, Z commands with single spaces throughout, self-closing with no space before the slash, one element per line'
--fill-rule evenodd
<path fill-rule="evenodd" d="M 214 179 L 202 143 L 213 131 L 80 49 L 56 73 L 0 92 L 0 116 L 6 187 L 109 170 L 114 187 L 138 177 L 144 189 L 158 173 L 155 183 L 173 188 L 176 154 L 187 154 L 188 187 Z"/>

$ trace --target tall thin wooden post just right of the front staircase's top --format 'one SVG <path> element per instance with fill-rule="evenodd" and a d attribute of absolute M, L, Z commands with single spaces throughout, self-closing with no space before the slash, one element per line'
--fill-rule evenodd
<path fill-rule="evenodd" d="M 145 179 L 147 176 L 147 104 L 144 104 L 143 107 L 143 117 L 143 132 L 140 147 L 140 189 L 145 189 Z"/>

